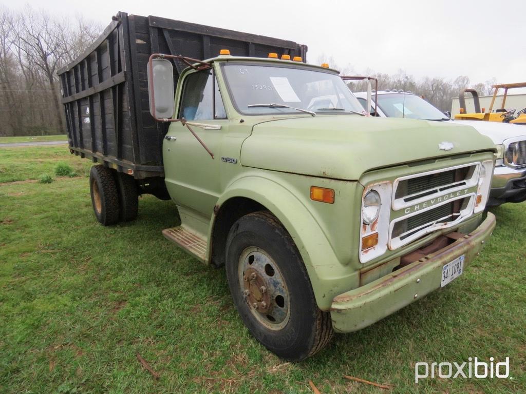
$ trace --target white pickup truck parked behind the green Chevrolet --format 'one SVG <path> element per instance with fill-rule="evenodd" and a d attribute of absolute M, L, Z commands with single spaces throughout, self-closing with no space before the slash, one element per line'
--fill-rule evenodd
<path fill-rule="evenodd" d="M 355 93 L 363 108 L 367 108 L 367 92 Z M 451 120 L 438 108 L 410 92 L 386 90 L 372 94 L 371 115 L 388 118 L 424 119 L 438 122 L 455 122 L 472 126 L 479 133 L 491 138 L 497 146 L 497 160 L 491 183 L 488 206 L 505 202 L 526 200 L 526 130 L 509 123 L 481 122 L 477 120 Z"/>

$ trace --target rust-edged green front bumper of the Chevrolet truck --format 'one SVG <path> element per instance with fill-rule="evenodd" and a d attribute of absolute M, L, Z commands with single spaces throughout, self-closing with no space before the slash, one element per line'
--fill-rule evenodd
<path fill-rule="evenodd" d="M 468 235 L 420 260 L 333 298 L 332 327 L 350 333 L 367 327 L 440 287 L 442 266 L 466 255 L 464 266 L 482 249 L 495 228 L 495 216 L 487 218 Z"/>

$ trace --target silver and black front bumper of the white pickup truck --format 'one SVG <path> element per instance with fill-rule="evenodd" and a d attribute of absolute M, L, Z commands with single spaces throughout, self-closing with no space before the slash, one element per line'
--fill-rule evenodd
<path fill-rule="evenodd" d="M 520 202 L 522 197 L 526 199 L 526 168 L 513 169 L 505 165 L 495 167 L 488 205 L 499 205 L 508 199 Z"/>

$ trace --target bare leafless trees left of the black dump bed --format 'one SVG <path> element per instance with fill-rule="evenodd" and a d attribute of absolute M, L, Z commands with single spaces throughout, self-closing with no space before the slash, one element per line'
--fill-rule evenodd
<path fill-rule="evenodd" d="M 0 136 L 65 133 L 57 70 L 101 32 L 80 16 L 0 7 Z"/>

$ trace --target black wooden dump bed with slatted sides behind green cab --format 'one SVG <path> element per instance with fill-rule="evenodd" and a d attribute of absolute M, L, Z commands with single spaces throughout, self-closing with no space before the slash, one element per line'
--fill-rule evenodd
<path fill-rule="evenodd" d="M 146 66 L 153 53 L 207 59 L 230 49 L 234 56 L 301 56 L 291 41 L 239 33 L 155 16 L 119 12 L 81 56 L 58 71 L 69 149 L 133 174 L 163 177 L 161 144 L 167 125 L 150 116 Z M 185 65 L 174 63 L 175 83 Z"/>

